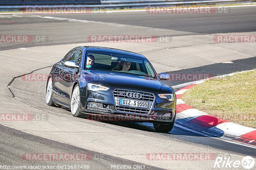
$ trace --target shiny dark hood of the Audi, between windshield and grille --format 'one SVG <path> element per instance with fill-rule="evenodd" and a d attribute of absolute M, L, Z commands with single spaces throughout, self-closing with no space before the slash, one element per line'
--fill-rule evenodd
<path fill-rule="evenodd" d="M 129 89 L 154 94 L 173 93 L 172 88 L 158 79 L 148 77 L 100 70 L 82 72 L 92 83 L 110 87 L 112 89 Z"/>

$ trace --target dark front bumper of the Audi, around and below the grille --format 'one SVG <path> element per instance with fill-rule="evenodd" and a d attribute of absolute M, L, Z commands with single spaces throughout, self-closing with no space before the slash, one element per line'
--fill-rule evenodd
<path fill-rule="evenodd" d="M 88 114 L 89 119 L 99 121 L 139 121 L 167 124 L 173 121 L 176 113 L 176 97 L 173 102 L 169 102 L 154 94 L 155 98 L 150 110 L 148 113 L 141 114 L 117 110 L 113 91 L 114 89 L 109 89 L 107 92 L 87 90 L 86 96 L 81 96 L 81 112 Z"/>

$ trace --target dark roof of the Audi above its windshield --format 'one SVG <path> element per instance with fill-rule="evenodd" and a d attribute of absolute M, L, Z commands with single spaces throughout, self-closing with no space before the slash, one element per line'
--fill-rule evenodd
<path fill-rule="evenodd" d="M 80 46 L 80 47 L 86 48 L 86 51 L 106 51 L 106 52 L 113 52 L 113 53 L 135 55 L 138 57 L 146 58 L 145 56 L 143 56 L 139 53 L 134 53 L 131 51 L 126 51 L 126 50 L 120 50 L 120 49 L 116 49 L 116 48 L 108 48 L 108 47 L 100 47 L 100 46 Z"/>

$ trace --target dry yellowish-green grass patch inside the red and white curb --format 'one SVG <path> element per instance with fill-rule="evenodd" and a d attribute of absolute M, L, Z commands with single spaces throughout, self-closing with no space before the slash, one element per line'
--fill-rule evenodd
<path fill-rule="evenodd" d="M 256 70 L 195 85 L 182 100 L 210 115 L 256 128 Z"/>

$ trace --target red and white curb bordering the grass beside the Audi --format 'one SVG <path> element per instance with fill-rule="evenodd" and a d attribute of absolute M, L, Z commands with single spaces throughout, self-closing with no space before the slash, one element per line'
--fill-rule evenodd
<path fill-rule="evenodd" d="M 248 70 L 252 71 L 252 70 Z M 247 71 L 243 71 L 247 72 Z M 242 73 L 242 72 L 238 72 Z M 188 104 L 186 104 L 182 99 L 182 94 L 190 89 L 191 87 L 195 86 L 196 84 L 200 84 L 204 81 L 219 78 L 224 76 L 231 76 L 236 73 L 232 74 L 225 74 L 221 76 L 216 76 L 200 81 L 194 81 L 193 84 L 190 84 L 176 93 L 177 97 L 177 106 L 176 106 L 176 121 L 175 124 L 181 125 L 188 130 L 199 132 L 200 134 L 207 134 L 210 137 L 219 137 L 228 139 L 231 141 L 240 142 L 246 145 L 256 146 L 256 129 L 245 127 L 239 124 L 235 124 L 229 122 L 224 119 L 220 119 L 218 117 L 214 117 L 207 113 L 204 113 L 200 110 L 197 110 Z M 191 82 L 190 82 L 191 83 Z M 180 85 L 178 85 L 180 86 Z M 177 87 L 178 87 L 177 86 Z M 175 86 L 173 86 L 175 88 Z M 177 88 L 176 87 L 176 88 Z"/>

